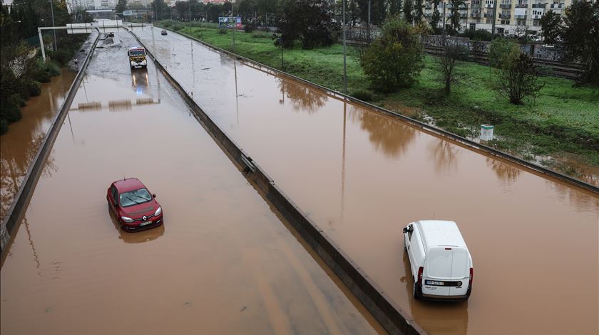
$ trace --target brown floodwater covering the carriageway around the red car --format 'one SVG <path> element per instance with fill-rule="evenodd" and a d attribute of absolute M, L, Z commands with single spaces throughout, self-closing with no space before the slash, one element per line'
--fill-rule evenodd
<path fill-rule="evenodd" d="M 1 268 L 1 334 L 374 334 L 150 63 L 97 50 Z M 165 224 L 123 233 L 135 176 Z"/>

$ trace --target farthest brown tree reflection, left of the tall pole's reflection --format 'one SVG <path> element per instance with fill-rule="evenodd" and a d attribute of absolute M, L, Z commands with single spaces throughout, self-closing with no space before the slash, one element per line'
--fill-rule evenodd
<path fill-rule="evenodd" d="M 283 99 L 280 102 L 285 103 L 285 97 L 290 99 L 294 112 L 304 111 L 312 114 L 317 112 L 327 102 L 327 96 L 321 92 L 311 90 L 304 85 L 299 85 L 284 78 L 277 78 L 277 80 L 279 82 L 279 90 L 283 95 Z"/>

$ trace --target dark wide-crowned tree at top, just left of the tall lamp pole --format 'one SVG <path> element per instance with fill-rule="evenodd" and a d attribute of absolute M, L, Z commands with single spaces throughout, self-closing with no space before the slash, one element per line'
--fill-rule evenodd
<path fill-rule="evenodd" d="M 285 4 L 277 32 L 282 34 L 285 48 L 299 40 L 302 48 L 312 49 L 330 46 L 336 41 L 339 29 L 339 23 L 332 21 L 327 0 L 298 0 Z"/>

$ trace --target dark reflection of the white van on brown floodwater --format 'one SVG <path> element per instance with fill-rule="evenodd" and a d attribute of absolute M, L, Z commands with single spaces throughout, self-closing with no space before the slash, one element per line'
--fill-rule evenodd
<path fill-rule="evenodd" d="M 408 253 L 404 251 L 406 275 L 399 279 L 406 287 L 411 315 L 429 334 L 463 335 L 468 333 L 468 302 L 428 302 L 414 299 Z"/>

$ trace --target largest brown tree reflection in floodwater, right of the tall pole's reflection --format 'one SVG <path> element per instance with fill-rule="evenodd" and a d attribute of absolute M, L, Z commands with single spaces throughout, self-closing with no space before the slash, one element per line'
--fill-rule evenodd
<path fill-rule="evenodd" d="M 399 158 L 416 137 L 416 129 L 354 105 L 349 108 L 349 119 L 353 123 L 360 122 L 362 130 L 369 133 L 369 140 L 374 148 L 382 151 L 387 158 Z"/>

